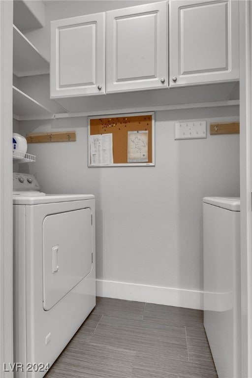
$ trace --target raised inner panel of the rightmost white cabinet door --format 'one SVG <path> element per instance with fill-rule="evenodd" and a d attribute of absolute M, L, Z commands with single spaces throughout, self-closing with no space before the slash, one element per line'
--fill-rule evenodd
<path fill-rule="evenodd" d="M 228 69 L 226 12 L 226 2 L 181 10 L 182 74 Z M 213 28 L 213 20 L 218 28 Z M 211 33 L 203 33 L 204 30 Z"/>

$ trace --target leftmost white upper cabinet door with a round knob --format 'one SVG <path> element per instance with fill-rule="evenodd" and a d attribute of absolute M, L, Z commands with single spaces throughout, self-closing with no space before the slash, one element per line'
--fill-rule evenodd
<path fill-rule="evenodd" d="M 51 97 L 105 93 L 105 13 L 51 22 Z"/>

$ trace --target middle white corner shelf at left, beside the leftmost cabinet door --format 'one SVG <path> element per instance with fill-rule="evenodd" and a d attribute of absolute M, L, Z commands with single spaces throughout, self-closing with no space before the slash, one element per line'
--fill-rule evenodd
<path fill-rule="evenodd" d="M 49 62 L 13 25 L 13 73 L 18 76 L 41 75 L 50 72 Z"/>

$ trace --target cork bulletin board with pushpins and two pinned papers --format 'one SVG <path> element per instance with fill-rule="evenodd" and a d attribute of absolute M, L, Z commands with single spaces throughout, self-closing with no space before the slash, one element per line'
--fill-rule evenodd
<path fill-rule="evenodd" d="M 154 112 L 89 117 L 88 165 L 155 165 Z"/>

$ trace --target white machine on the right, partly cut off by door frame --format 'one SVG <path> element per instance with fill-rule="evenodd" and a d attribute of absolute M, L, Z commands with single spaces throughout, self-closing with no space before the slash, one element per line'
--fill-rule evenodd
<path fill-rule="evenodd" d="M 240 198 L 203 198 L 204 326 L 219 378 L 241 377 Z"/>

